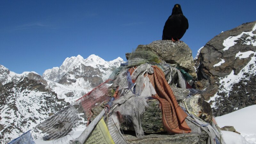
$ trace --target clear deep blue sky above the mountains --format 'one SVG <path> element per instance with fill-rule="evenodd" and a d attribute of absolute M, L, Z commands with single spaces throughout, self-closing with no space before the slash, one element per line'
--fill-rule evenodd
<path fill-rule="evenodd" d="M 78 54 L 125 60 L 139 44 L 162 39 L 176 3 L 189 22 L 181 40 L 193 57 L 221 31 L 256 20 L 256 0 L 1 0 L 0 64 L 42 75 Z"/>

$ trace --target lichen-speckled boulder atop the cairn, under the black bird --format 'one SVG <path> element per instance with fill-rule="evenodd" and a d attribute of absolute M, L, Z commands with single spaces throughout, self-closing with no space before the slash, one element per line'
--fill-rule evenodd
<path fill-rule="evenodd" d="M 196 78 L 195 65 L 192 52 L 184 42 L 172 42 L 171 40 L 158 40 L 147 45 L 138 45 L 136 51 L 154 52 L 166 63 L 177 64 L 191 76 Z M 126 54 L 128 57 L 129 54 Z"/>

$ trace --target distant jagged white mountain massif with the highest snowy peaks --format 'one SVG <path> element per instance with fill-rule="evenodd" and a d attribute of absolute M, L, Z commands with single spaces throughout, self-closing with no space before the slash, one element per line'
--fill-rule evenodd
<path fill-rule="evenodd" d="M 72 85 L 83 88 L 85 86 L 97 86 L 108 78 L 111 72 L 124 60 L 118 57 L 112 61 L 105 61 L 94 54 L 87 59 L 77 55 L 66 58 L 60 68 L 54 67 L 45 70 L 43 77 L 64 85 Z M 90 82 L 90 84 L 86 84 Z"/>

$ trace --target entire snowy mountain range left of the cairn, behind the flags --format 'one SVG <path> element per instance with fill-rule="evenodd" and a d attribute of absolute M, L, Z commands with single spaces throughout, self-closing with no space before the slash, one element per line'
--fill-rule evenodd
<path fill-rule="evenodd" d="M 9 142 L 43 122 L 103 82 L 124 62 L 91 55 L 67 58 L 44 72 L 16 74 L 0 65 L 0 143 Z M 59 83 L 58 83 L 59 82 Z M 77 107 L 79 107 L 77 105 Z M 82 109 L 81 125 L 86 123 Z"/>

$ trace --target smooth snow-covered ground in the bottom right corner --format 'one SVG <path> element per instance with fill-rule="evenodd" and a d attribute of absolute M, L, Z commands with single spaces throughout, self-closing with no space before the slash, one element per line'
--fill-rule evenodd
<path fill-rule="evenodd" d="M 235 132 L 221 131 L 226 144 L 256 144 L 255 111 L 256 105 L 252 105 L 215 118 L 219 127 L 234 126 L 236 131 L 241 133 L 239 135 Z"/>

